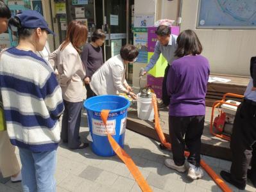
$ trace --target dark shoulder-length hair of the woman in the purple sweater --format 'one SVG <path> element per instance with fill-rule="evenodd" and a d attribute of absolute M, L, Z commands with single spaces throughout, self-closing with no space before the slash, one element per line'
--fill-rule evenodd
<path fill-rule="evenodd" d="M 177 38 L 177 49 L 175 51 L 175 56 L 182 58 L 183 56 L 192 54 L 201 54 L 203 47 L 201 46 L 200 40 L 194 31 L 187 29 L 182 31 Z"/>

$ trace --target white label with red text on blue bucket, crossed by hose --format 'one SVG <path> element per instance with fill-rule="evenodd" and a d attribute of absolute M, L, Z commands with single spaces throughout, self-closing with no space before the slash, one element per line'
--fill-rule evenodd
<path fill-rule="evenodd" d="M 111 135 L 115 135 L 115 120 L 107 121 L 107 130 Z M 92 118 L 92 132 L 100 136 L 106 136 L 108 134 L 105 125 L 101 120 Z"/>

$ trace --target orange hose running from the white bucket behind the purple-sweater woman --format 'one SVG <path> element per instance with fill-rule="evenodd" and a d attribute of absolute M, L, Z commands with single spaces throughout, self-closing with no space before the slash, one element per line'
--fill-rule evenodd
<path fill-rule="evenodd" d="M 168 143 L 166 141 L 166 137 L 164 136 L 164 133 L 162 132 L 162 128 L 160 126 L 159 118 L 158 118 L 158 109 L 157 109 L 157 97 L 155 95 L 152 96 L 152 104 L 154 108 L 155 113 L 155 130 L 157 131 L 157 134 L 160 138 L 161 143 L 164 145 L 164 147 L 171 149 L 171 143 Z M 184 152 L 184 155 L 186 157 L 189 156 L 189 152 Z M 221 188 L 225 192 L 232 192 L 232 190 L 226 185 L 226 183 L 210 168 L 208 164 L 205 163 L 205 161 L 200 161 L 201 167 L 212 177 L 214 182 L 218 184 L 219 188 Z"/>

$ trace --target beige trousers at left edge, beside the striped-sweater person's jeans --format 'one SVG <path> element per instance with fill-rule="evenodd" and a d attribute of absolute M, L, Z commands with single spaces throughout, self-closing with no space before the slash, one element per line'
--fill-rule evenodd
<path fill-rule="evenodd" d="M 3 177 L 10 177 L 21 171 L 15 147 L 11 144 L 7 131 L 0 131 L 0 171 Z"/>

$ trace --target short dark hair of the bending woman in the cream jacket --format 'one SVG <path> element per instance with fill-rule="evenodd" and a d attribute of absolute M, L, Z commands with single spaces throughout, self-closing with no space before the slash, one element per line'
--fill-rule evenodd
<path fill-rule="evenodd" d="M 121 58 L 125 61 L 133 61 L 139 54 L 138 49 L 134 45 L 124 45 L 120 50 Z"/>

